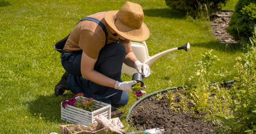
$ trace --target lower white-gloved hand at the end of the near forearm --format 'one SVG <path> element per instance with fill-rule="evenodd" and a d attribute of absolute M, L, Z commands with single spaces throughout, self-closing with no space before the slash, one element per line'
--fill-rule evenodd
<path fill-rule="evenodd" d="M 131 89 L 131 87 L 132 87 L 132 85 L 134 85 L 136 83 L 137 83 L 136 80 L 132 80 L 130 82 L 118 82 L 118 81 L 116 81 L 115 82 L 115 89 L 124 90 L 126 92 L 132 93 L 134 91 Z"/>

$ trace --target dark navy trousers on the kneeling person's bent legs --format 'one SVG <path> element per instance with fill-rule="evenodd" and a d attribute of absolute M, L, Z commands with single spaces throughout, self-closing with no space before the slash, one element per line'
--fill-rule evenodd
<path fill-rule="evenodd" d="M 71 92 L 83 93 L 84 97 L 92 97 L 95 100 L 111 104 L 112 106 L 124 106 L 128 103 L 128 93 L 103 85 L 96 84 L 83 78 L 80 72 L 82 51 L 62 52 L 61 63 L 68 71 L 68 88 Z M 105 45 L 99 52 L 94 70 L 109 78 L 121 80 L 121 68 L 125 60 L 125 47 L 113 42 Z"/>

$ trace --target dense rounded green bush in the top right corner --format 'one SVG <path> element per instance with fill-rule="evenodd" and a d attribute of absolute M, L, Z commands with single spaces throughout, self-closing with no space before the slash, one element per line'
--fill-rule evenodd
<path fill-rule="evenodd" d="M 256 24 L 255 0 L 239 0 L 235 11 L 231 16 L 227 32 L 235 40 L 246 40 L 252 36 L 253 27 Z"/>

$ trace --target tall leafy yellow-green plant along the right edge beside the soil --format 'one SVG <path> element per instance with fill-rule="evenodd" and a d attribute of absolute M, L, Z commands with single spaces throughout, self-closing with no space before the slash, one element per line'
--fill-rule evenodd
<path fill-rule="evenodd" d="M 249 38 L 250 45 L 247 44 L 247 52 L 236 58 L 235 70 L 238 77 L 235 78 L 236 83 L 231 88 L 233 95 L 234 116 L 231 118 L 221 117 L 224 128 L 216 130 L 224 133 L 255 133 L 256 132 L 256 49 L 255 49 L 255 33 Z"/>

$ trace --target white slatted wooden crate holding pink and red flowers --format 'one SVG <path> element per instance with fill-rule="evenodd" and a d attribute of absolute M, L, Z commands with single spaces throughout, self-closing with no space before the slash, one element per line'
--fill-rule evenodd
<path fill-rule="evenodd" d="M 81 98 L 86 99 L 86 97 Z M 80 97 L 75 97 L 75 99 L 78 100 L 80 99 Z M 88 126 L 89 123 L 93 123 L 98 114 L 101 114 L 102 116 L 111 119 L 111 105 L 99 102 L 97 100 L 94 101 L 96 101 L 96 104 L 94 104 L 93 107 L 100 106 L 101 108 L 92 112 L 70 106 L 69 104 L 67 104 L 65 108 L 63 108 L 61 102 L 61 119 L 69 123 L 81 124 L 85 126 Z"/>

